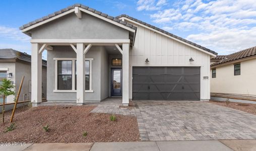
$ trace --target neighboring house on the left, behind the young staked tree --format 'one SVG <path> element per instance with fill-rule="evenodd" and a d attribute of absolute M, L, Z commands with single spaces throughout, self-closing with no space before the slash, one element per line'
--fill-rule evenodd
<path fill-rule="evenodd" d="M 46 60 L 42 60 L 42 97 L 46 97 Z M 31 55 L 13 49 L 0 49 L 0 84 L 3 79 L 10 79 L 18 93 L 22 76 L 25 76 L 19 101 L 30 100 L 31 95 Z M 15 96 L 7 97 L 7 103 L 13 103 Z M 0 104 L 3 96 L 0 96 Z"/>

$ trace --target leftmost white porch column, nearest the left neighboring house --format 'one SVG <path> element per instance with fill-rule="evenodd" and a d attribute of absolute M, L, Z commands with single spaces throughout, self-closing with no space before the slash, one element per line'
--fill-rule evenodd
<path fill-rule="evenodd" d="M 38 53 L 40 44 L 32 43 L 31 55 L 31 102 L 36 107 L 42 102 L 42 53 Z"/>

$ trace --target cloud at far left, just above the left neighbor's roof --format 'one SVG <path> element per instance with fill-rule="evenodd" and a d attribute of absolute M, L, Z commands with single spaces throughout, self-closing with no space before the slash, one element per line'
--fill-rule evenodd
<path fill-rule="evenodd" d="M 0 25 L 0 37 L 18 41 L 29 41 L 30 37 L 23 34 L 18 28 L 10 28 Z"/>

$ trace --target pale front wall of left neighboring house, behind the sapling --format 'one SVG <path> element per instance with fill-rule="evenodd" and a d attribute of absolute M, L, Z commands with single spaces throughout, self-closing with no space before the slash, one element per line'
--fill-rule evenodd
<path fill-rule="evenodd" d="M 16 73 L 15 73 L 15 62 L 0 62 L 0 68 L 8 68 L 7 73 L 12 73 L 13 76 L 10 79 L 15 83 Z M 15 84 L 14 84 L 15 85 Z M 7 101 L 8 103 L 13 103 L 15 96 L 8 96 Z"/>

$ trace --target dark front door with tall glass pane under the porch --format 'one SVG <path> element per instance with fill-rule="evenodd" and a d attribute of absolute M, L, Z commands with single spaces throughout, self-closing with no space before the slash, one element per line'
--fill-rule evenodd
<path fill-rule="evenodd" d="M 122 96 L 122 69 L 111 69 L 111 96 Z"/>

